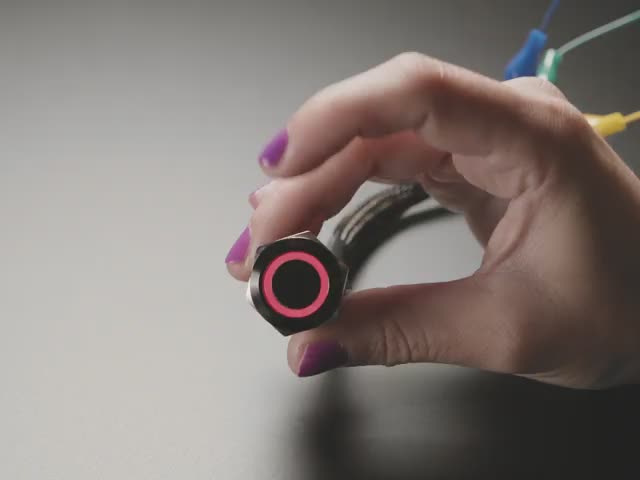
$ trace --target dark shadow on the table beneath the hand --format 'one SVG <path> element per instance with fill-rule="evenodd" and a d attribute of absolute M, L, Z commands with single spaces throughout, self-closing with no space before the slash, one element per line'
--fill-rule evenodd
<path fill-rule="evenodd" d="M 405 425 L 388 431 L 370 428 L 347 380 L 326 375 L 303 416 L 305 480 L 640 478 L 640 387 L 577 391 L 478 373 L 439 393 L 397 392 Z"/>

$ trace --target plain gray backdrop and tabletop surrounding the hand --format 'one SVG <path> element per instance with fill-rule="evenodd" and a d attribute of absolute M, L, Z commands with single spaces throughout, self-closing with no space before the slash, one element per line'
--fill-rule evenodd
<path fill-rule="evenodd" d="M 637 4 L 564 1 L 551 44 Z M 223 264 L 260 147 L 316 89 L 406 50 L 500 76 L 545 7 L 1 2 L 0 478 L 637 478 L 637 389 L 446 366 L 297 379 Z M 561 87 L 640 108 L 639 47 L 634 26 L 576 52 Z M 612 140 L 629 161 L 639 132 Z M 362 286 L 480 254 L 442 220 Z"/>

